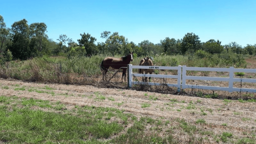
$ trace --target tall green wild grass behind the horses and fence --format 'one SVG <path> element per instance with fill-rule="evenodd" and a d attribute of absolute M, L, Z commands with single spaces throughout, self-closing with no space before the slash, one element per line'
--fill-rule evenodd
<path fill-rule="evenodd" d="M 201 56 L 201 55 L 200 55 Z M 101 75 L 100 63 L 107 55 L 94 55 L 91 57 L 38 57 L 25 61 L 12 61 L 8 67 L 0 66 L 0 77 L 13 78 L 25 81 L 44 81 L 50 83 L 64 84 L 86 84 L 98 83 Z M 122 57 L 121 55 L 115 56 Z M 202 56 L 201 56 L 202 57 Z M 139 65 L 143 57 L 134 57 L 130 63 Z M 188 67 L 246 67 L 242 55 L 234 53 L 221 53 L 207 55 L 199 58 L 196 55 L 160 55 L 152 57 L 156 66 L 178 66 L 187 65 Z M 93 77 L 97 77 L 96 80 Z"/>

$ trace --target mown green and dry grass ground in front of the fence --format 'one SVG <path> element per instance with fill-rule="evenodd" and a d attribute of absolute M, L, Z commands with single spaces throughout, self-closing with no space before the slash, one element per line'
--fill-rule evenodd
<path fill-rule="evenodd" d="M 256 142 L 253 100 L 175 98 L 149 92 L 132 95 L 120 89 L 108 94 L 105 89 L 91 92 L 83 87 L 76 92 L 79 86 L 19 81 L 1 81 L 0 86 L 0 141 L 4 143 Z M 129 105 L 138 107 L 132 112 Z M 151 114 L 153 109 L 163 115 Z"/>

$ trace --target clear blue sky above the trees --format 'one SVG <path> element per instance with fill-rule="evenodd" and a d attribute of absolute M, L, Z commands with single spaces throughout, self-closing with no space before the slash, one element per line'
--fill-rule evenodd
<path fill-rule="evenodd" d="M 100 33 L 110 31 L 135 44 L 157 44 L 166 37 L 177 40 L 191 32 L 201 42 L 256 44 L 255 0 L 12 0 L 1 5 L 8 28 L 22 19 L 28 24 L 44 22 L 46 34 L 56 42 L 63 34 L 77 42 L 80 34 L 89 33 L 97 44 L 105 42 Z"/>

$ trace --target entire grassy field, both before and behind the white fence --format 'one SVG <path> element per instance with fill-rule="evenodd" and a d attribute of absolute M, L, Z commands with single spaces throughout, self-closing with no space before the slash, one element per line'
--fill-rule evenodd
<path fill-rule="evenodd" d="M 137 91 L 130 92 L 127 83 L 120 82 L 121 74 L 109 83 L 102 81 L 99 66 L 105 57 L 43 56 L 1 66 L 0 77 L 5 80 L 0 83 L 0 143 L 256 143 L 255 93 L 198 89 L 178 93 L 175 88 L 147 85 L 134 86 L 132 90 Z M 235 57 L 158 56 L 154 64 L 256 68 Z M 244 57 L 256 61 L 255 57 Z M 138 65 L 141 59 L 134 58 L 131 64 Z M 108 77 L 114 72 L 110 70 Z M 190 75 L 225 76 L 196 71 Z M 93 86 L 87 94 L 86 85 Z"/>

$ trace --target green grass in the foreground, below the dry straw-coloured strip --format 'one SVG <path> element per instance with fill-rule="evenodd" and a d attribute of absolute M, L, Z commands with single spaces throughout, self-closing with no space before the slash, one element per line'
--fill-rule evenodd
<path fill-rule="evenodd" d="M 235 137 L 231 132 L 215 135 L 201 124 L 206 121 L 136 117 L 116 108 L 87 105 L 70 109 L 60 101 L 0 96 L 0 141 L 5 143 L 204 143 L 205 137 L 216 142 L 231 142 Z M 186 135 L 186 141 L 174 131 Z M 237 138 L 235 143 L 255 143 L 255 138 Z"/>

